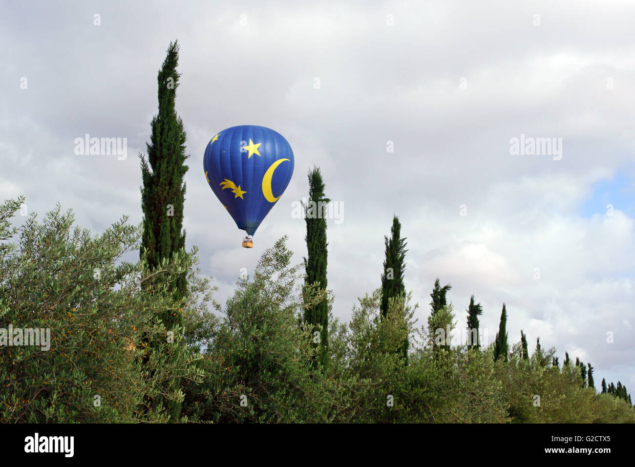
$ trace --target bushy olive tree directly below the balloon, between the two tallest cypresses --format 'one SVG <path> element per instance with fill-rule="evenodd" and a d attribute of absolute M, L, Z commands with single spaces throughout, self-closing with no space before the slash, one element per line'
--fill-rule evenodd
<path fill-rule="evenodd" d="M 206 376 L 190 385 L 185 414 L 213 422 L 328 422 L 337 384 L 309 365 L 311 330 L 298 320 L 326 298 L 313 286 L 297 291 L 300 266 L 290 266 L 284 241 L 266 250 L 253 280 L 239 280 L 201 362 Z"/>

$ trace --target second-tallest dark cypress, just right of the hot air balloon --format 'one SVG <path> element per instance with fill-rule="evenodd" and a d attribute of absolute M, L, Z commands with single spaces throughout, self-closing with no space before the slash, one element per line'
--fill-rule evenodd
<path fill-rule="evenodd" d="M 304 258 L 306 276 L 305 287 L 319 283 L 319 288 L 326 290 L 326 262 L 328 255 L 328 243 L 326 243 L 326 205 L 331 201 L 324 194 L 324 180 L 319 167 L 314 166 L 309 170 L 309 200 L 305 206 L 307 223 L 307 257 Z M 315 304 L 304 310 L 305 321 L 312 326 L 312 334 L 318 332 L 321 326 L 319 343 L 321 353 L 315 360 L 316 363 L 326 365 L 328 362 L 328 300 Z M 318 346 L 316 339 L 313 345 Z"/>

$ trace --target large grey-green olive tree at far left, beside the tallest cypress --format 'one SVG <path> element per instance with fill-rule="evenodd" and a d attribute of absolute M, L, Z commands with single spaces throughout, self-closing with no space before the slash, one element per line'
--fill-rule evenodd
<path fill-rule="evenodd" d="M 157 319 L 164 309 L 189 307 L 169 285 L 192 266 L 193 255 L 161 262 L 154 270 L 161 285 L 144 287 L 142 263 L 122 261 L 139 247 L 140 227 L 124 217 L 92 236 L 73 228 L 72 212 L 60 206 L 41 222 L 33 214 L 10 227 L 21 201 L 0 207 L 0 327 L 50 330 L 50 349 L 0 347 L 0 419 L 165 421 L 161 405 L 142 414 L 143 396 L 178 402 L 182 394 L 165 391 L 165 382 L 201 377 L 192 365 L 198 357 L 179 344 L 183 328 L 168 329 Z M 4 241 L 13 236 L 15 242 Z M 142 335 L 165 341 L 168 331 L 175 343 L 167 351 L 142 346 Z"/>

